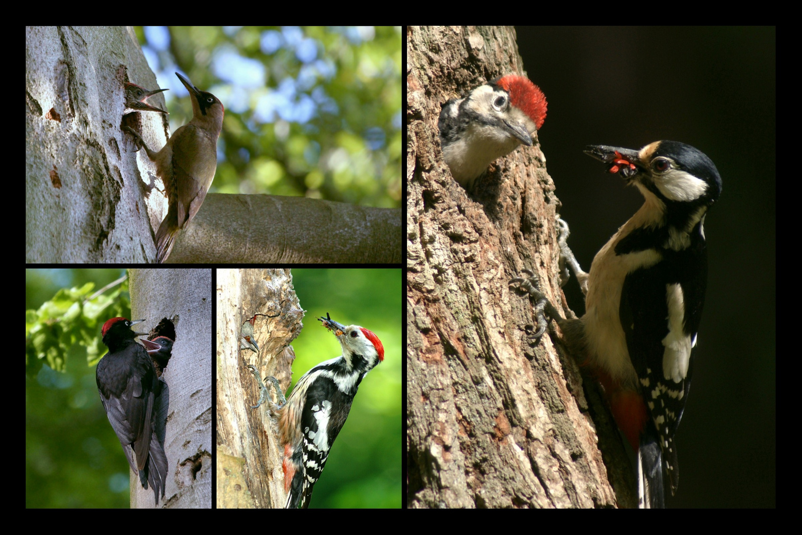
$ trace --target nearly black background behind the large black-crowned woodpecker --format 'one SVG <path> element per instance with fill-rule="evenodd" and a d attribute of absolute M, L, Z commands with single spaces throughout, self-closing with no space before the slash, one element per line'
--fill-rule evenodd
<path fill-rule="evenodd" d="M 587 144 L 691 144 L 723 193 L 705 223 L 710 272 L 673 507 L 776 505 L 774 28 L 516 27 L 549 100 L 539 132 L 585 270 L 642 205 Z M 522 150 L 522 149 L 519 149 Z M 569 303 L 582 314 L 576 282 Z"/>

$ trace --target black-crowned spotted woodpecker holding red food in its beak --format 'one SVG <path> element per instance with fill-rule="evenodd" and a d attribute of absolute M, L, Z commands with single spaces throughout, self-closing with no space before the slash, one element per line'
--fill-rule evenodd
<path fill-rule="evenodd" d="M 527 278 L 511 282 L 545 301 L 569 352 L 593 368 L 618 428 L 638 452 L 638 505 L 662 507 L 664 488 L 673 495 L 678 485 L 674 434 L 691 387 L 707 284 L 703 225 L 719 199 L 721 177 L 703 152 L 676 141 L 639 151 L 598 145 L 585 152 L 646 198 L 596 254 L 589 274 L 570 253 L 567 226 L 558 221 L 562 257 L 585 292 L 585 315 L 561 318 L 529 270 Z"/>

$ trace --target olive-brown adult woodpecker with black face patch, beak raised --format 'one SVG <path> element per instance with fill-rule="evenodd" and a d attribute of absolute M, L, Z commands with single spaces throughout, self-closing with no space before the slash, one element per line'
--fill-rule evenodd
<path fill-rule="evenodd" d="M 184 229 L 206 198 L 217 170 L 217 138 L 223 128 L 223 103 L 215 95 L 201 91 L 176 72 L 192 99 L 192 120 L 172 134 L 159 152 L 142 137 L 125 127 L 136 144 L 156 164 L 156 174 L 164 181 L 168 197 L 167 217 L 156 231 L 156 261 L 167 260 L 179 230 Z"/>

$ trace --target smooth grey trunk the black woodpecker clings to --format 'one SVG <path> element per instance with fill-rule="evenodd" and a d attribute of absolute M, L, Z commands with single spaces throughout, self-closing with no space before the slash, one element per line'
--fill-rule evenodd
<path fill-rule="evenodd" d="M 168 406 L 164 453 L 168 460 L 166 496 L 159 507 L 212 506 L 212 272 L 211 270 L 130 270 L 131 312 L 150 330 L 161 318 L 176 326 L 172 358 L 161 380 Z M 152 508 L 132 472 L 131 506 Z"/>

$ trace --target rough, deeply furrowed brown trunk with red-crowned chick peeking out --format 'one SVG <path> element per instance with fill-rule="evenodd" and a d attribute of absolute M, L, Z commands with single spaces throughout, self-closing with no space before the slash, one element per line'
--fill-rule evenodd
<path fill-rule="evenodd" d="M 540 145 L 496 160 L 470 192 L 439 146 L 448 99 L 526 74 L 515 39 L 511 27 L 407 29 L 408 507 L 616 503 L 576 363 L 556 336 L 530 340 L 533 304 L 508 284 L 529 268 L 561 306 L 560 201 Z"/>

